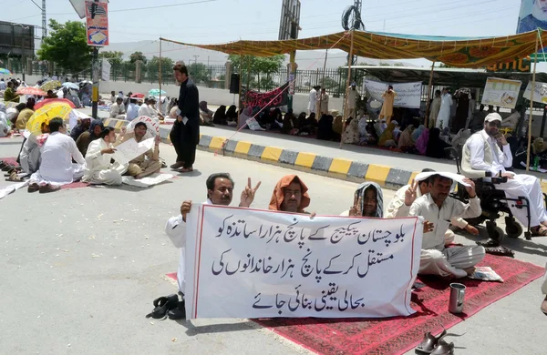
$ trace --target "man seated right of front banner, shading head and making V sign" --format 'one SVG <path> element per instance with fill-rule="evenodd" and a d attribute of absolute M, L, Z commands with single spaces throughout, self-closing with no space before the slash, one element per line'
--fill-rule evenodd
<path fill-rule="evenodd" d="M 452 179 L 439 173 L 429 177 L 429 193 L 417 198 L 410 207 L 409 216 L 421 216 L 433 223 L 433 230 L 424 233 L 422 239 L 418 274 L 465 278 L 484 259 L 485 250 L 481 246 L 445 248 L 445 235 L 452 218 L 476 218 L 482 213 L 473 182 L 469 179 L 465 182 L 470 184 L 466 187 L 469 204 L 449 197 Z"/>

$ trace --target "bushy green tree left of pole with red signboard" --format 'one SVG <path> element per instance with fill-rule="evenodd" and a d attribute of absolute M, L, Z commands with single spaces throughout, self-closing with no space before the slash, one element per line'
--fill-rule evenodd
<path fill-rule="evenodd" d="M 91 66 L 93 47 L 88 46 L 86 27 L 78 21 L 60 24 L 49 20 L 51 32 L 44 38 L 37 51 L 40 60 L 57 63 L 65 70 L 76 74 Z"/>

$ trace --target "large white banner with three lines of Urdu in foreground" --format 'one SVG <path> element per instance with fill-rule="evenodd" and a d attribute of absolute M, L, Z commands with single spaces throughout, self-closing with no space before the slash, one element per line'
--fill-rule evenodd
<path fill-rule="evenodd" d="M 196 204 L 186 220 L 188 319 L 415 312 L 422 218 L 311 219 Z"/>

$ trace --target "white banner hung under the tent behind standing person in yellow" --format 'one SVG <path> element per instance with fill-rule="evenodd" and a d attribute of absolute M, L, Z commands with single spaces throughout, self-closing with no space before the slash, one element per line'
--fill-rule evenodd
<path fill-rule="evenodd" d="M 363 86 L 365 86 L 368 94 L 377 101 L 384 102 L 382 94 L 387 90 L 387 86 L 393 86 L 393 91 L 397 93 L 393 106 L 396 107 L 408 107 L 419 108 L 421 100 L 421 86 L 420 82 L 415 83 L 402 83 L 402 84 L 390 84 L 381 81 L 365 80 Z"/>

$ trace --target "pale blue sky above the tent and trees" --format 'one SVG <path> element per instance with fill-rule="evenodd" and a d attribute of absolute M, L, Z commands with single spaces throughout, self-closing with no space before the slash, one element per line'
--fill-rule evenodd
<path fill-rule="evenodd" d="M 41 5 L 40 0 L 35 0 Z M 301 0 L 300 38 L 343 31 L 353 0 Z M 363 0 L 366 30 L 414 35 L 492 36 L 515 33 L 520 0 Z M 156 40 L 216 44 L 277 39 L 282 0 L 110 0 L 110 43 Z M 0 0 L 0 20 L 41 25 L 31 0 Z M 46 0 L 47 19 L 83 21 L 68 0 Z M 38 34 L 41 35 L 38 29 Z M 337 56 L 343 55 L 339 53 Z M 329 55 L 331 56 L 331 55 Z M 332 57 L 335 57 L 334 53 Z M 201 61 L 201 60 L 200 60 Z M 412 63 L 413 61 L 406 61 Z M 427 65 L 427 61 L 415 61 Z"/>

